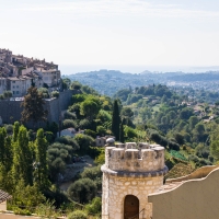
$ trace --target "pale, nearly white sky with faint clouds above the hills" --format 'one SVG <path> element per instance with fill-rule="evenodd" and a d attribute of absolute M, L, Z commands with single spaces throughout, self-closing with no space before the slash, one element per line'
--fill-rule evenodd
<path fill-rule="evenodd" d="M 0 0 L 0 27 L 1 48 L 65 72 L 219 70 L 218 0 Z"/>

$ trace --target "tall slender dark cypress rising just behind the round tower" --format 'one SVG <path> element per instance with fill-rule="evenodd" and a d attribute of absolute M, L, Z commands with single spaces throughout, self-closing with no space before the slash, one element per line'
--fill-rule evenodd
<path fill-rule="evenodd" d="M 113 104 L 112 132 L 114 134 L 116 140 L 119 140 L 119 124 L 120 115 L 118 110 L 118 101 L 115 100 Z"/>

